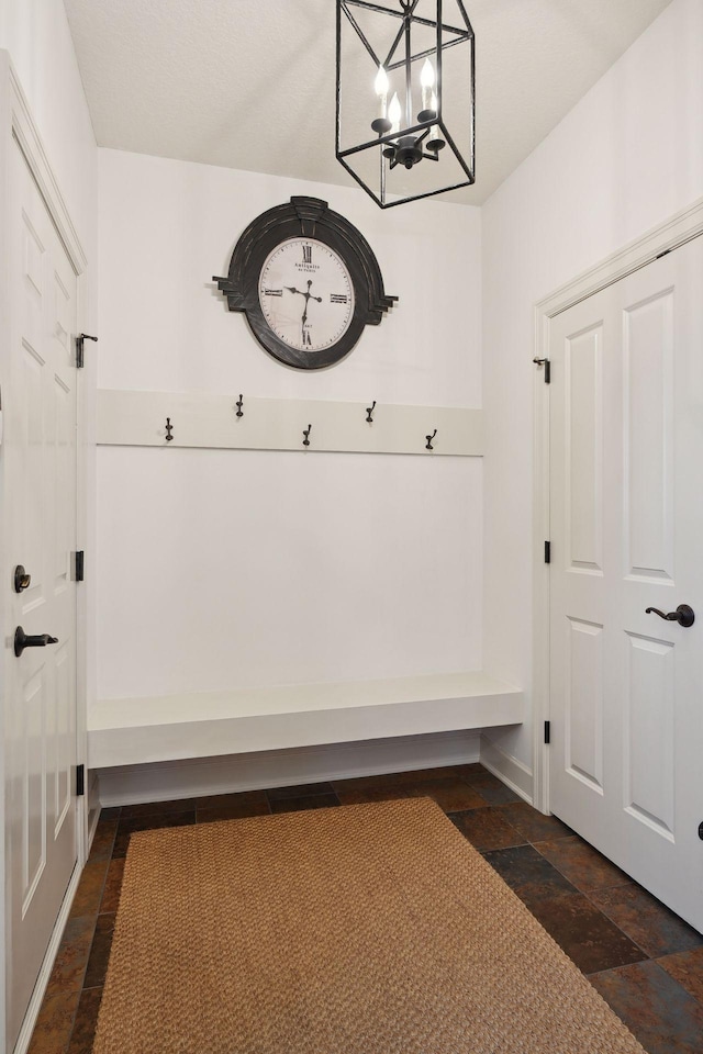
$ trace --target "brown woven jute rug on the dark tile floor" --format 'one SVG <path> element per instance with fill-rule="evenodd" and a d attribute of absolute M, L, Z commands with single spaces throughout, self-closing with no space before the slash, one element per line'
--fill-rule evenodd
<path fill-rule="evenodd" d="M 427 798 L 134 834 L 94 1054 L 643 1054 Z"/>

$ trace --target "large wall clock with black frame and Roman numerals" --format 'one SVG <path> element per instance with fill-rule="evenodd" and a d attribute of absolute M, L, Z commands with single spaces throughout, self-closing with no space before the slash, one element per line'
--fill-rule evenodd
<path fill-rule="evenodd" d="M 213 281 L 259 344 L 300 370 L 338 362 L 398 300 L 364 236 L 319 198 L 291 198 L 254 220 L 228 276 Z"/>

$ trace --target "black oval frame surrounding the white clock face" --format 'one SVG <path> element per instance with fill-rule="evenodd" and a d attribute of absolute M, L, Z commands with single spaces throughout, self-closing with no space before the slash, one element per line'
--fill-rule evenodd
<path fill-rule="evenodd" d="M 274 333 L 259 303 L 259 277 L 269 254 L 289 238 L 314 238 L 327 245 L 344 261 L 354 285 L 354 313 L 346 332 L 322 351 L 291 348 Z M 230 311 L 243 311 L 252 333 L 280 362 L 298 370 L 321 370 L 338 362 L 356 345 L 364 327 L 378 326 L 398 301 L 383 290 L 381 269 L 373 251 L 357 228 L 320 198 L 291 198 L 254 220 L 239 237 L 226 278 L 213 278 L 227 298 Z"/>

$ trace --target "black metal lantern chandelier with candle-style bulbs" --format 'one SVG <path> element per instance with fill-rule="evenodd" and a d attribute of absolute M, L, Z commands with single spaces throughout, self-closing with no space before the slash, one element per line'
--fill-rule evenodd
<path fill-rule="evenodd" d="M 337 0 L 337 160 L 381 209 L 472 183 L 475 119 L 462 0 Z"/>

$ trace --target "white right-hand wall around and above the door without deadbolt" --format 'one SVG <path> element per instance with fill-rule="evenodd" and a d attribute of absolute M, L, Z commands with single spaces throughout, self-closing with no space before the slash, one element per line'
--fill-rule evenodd
<path fill-rule="evenodd" d="M 534 304 L 703 194 L 702 41 L 673 0 L 482 210 L 484 666 L 526 689 Z M 532 765 L 528 724 L 492 739 Z"/>

